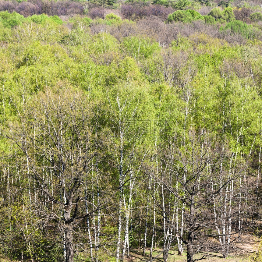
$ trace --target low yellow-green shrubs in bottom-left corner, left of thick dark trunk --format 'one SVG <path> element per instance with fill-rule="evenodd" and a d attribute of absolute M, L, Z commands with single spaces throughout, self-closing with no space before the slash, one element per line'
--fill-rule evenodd
<path fill-rule="evenodd" d="M 5 236 L 6 245 L 0 243 L 0 250 L 5 250 L 13 259 L 19 259 L 21 253 L 30 257 L 27 241 L 30 241 L 30 250 L 33 257 L 40 262 L 62 261 L 62 252 L 59 242 L 55 242 L 47 231 L 43 232 L 36 225 L 37 217 L 27 207 L 27 199 L 24 197 L 25 206 L 13 205 L 12 209 L 5 209 L 6 215 L 0 218 L 1 223 L 11 221 L 8 227 L 2 227 L 0 234 Z M 2 242 L 2 241 L 1 241 Z"/>

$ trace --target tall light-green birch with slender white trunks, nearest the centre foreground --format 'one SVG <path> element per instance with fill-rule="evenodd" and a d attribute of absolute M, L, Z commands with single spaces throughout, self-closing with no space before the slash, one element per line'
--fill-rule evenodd
<path fill-rule="evenodd" d="M 144 134 L 148 132 L 147 120 L 142 120 L 143 112 L 147 108 L 147 101 L 143 97 L 138 87 L 132 86 L 131 83 L 126 83 L 124 86 L 116 86 L 113 90 L 107 91 L 107 100 L 109 107 L 109 120 L 112 124 L 112 155 L 115 159 L 118 170 L 118 233 L 116 244 L 116 260 L 119 261 L 121 249 L 121 232 L 123 225 L 123 209 L 127 212 L 126 227 L 129 223 L 129 208 L 132 200 L 132 190 L 135 183 L 134 173 L 139 172 L 145 154 L 148 150 L 140 153 L 140 159 L 137 159 L 136 152 L 140 145 L 144 143 Z M 140 163 L 137 167 L 137 161 Z M 125 186 L 130 184 L 129 199 L 126 203 Z M 128 228 L 125 230 L 124 246 L 122 257 L 126 252 L 126 244 L 128 239 Z"/>

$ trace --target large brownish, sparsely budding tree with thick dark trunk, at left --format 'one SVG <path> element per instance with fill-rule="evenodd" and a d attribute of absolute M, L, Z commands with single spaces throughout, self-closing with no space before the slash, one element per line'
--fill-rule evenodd
<path fill-rule="evenodd" d="M 79 208 L 99 146 L 93 137 L 92 105 L 70 89 L 46 90 L 38 98 L 35 105 L 27 105 L 19 125 L 10 126 L 12 134 L 6 136 L 25 155 L 28 172 L 38 183 L 44 201 L 54 204 L 54 209 L 53 204 L 45 205 L 43 216 L 62 230 L 64 255 L 72 262 L 74 227 L 99 208 L 87 213 Z M 45 179 L 46 172 L 52 176 L 51 184 Z"/>

